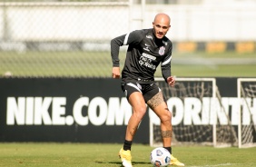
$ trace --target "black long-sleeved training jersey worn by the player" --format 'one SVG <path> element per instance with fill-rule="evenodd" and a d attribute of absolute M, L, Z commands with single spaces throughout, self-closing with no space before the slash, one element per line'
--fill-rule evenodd
<path fill-rule="evenodd" d="M 154 73 L 160 63 L 165 81 L 171 76 L 172 42 L 166 36 L 156 38 L 151 28 L 114 38 L 111 41 L 113 66 L 119 66 L 118 55 L 122 45 L 129 45 L 122 71 L 123 81 L 153 83 Z"/>

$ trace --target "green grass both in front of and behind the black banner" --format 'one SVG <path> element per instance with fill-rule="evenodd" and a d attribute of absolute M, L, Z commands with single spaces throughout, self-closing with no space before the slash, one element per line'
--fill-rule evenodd
<path fill-rule="evenodd" d="M 120 55 L 123 64 L 124 54 Z M 202 64 L 194 64 L 197 58 Z M 251 60 L 256 54 L 173 53 L 172 74 L 176 76 L 241 76 L 256 77 L 256 64 L 209 64 L 213 59 Z M 182 63 L 177 63 L 178 60 Z M 187 61 L 184 61 L 188 59 Z M 208 61 L 208 62 L 207 62 Z M 112 71 L 110 53 L 106 52 L 0 52 L 0 74 L 14 76 L 79 76 L 109 77 Z M 156 76 L 162 76 L 160 70 Z M 121 167 L 117 152 L 122 144 L 95 143 L 34 143 L 0 142 L 0 166 L 13 167 Z M 133 166 L 152 166 L 149 162 L 149 145 L 133 144 Z M 256 166 L 256 148 L 213 148 L 209 146 L 174 146 L 174 156 L 189 167 L 252 167 Z"/>

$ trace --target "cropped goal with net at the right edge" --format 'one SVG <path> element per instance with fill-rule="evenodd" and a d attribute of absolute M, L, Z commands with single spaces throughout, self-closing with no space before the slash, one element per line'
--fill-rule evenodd
<path fill-rule="evenodd" d="M 256 146 L 256 78 L 237 80 L 238 98 L 241 102 L 239 122 L 239 147 Z"/>

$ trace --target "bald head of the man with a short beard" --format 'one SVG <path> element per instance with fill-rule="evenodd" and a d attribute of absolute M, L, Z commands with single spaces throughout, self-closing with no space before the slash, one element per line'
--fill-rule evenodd
<path fill-rule="evenodd" d="M 171 19 L 169 15 L 166 14 L 157 14 L 153 20 L 153 33 L 158 39 L 162 39 L 162 37 L 167 34 L 170 25 Z"/>

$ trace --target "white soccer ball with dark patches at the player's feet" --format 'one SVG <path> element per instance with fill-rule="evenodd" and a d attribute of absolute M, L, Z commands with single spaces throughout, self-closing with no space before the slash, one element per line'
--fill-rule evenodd
<path fill-rule="evenodd" d="M 171 162 L 171 154 L 162 147 L 155 148 L 150 154 L 150 162 L 154 167 L 168 166 Z"/>

